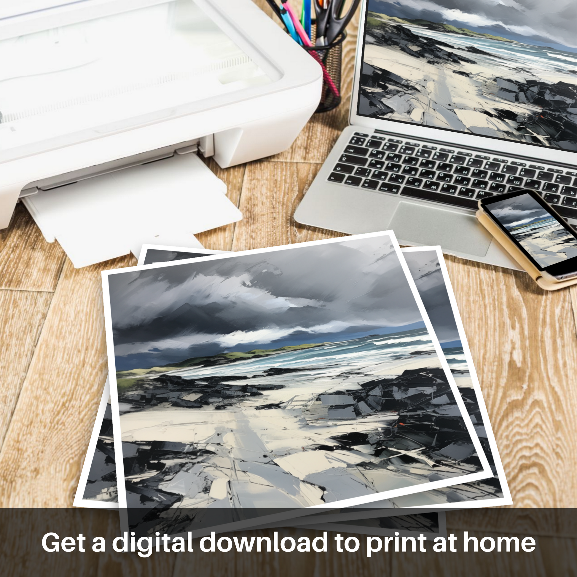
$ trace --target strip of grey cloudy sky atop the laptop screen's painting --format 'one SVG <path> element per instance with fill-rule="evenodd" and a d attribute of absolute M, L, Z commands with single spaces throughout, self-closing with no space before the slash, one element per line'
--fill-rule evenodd
<path fill-rule="evenodd" d="M 494 35 L 577 46 L 575 0 L 370 0 L 369 9 Z"/>

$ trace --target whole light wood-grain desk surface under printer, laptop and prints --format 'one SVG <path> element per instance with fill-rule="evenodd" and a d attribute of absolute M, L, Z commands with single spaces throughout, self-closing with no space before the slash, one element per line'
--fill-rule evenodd
<path fill-rule="evenodd" d="M 353 25 L 346 95 L 355 39 Z M 279 155 L 226 170 L 208 160 L 243 220 L 198 239 L 245 250 L 337 236 L 292 215 L 348 110 L 347 97 L 314 115 Z M 524 273 L 446 259 L 515 507 L 577 507 L 577 287 L 546 293 Z M 72 505 L 107 373 L 100 271 L 133 264 L 74 269 L 21 204 L 0 231 L 0 507 Z"/>

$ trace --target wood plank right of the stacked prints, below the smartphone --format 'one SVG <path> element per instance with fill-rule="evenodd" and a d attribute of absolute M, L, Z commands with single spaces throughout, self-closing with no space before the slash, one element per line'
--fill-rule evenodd
<path fill-rule="evenodd" d="M 577 335 L 567 290 L 447 257 L 515 507 L 576 507 Z"/>

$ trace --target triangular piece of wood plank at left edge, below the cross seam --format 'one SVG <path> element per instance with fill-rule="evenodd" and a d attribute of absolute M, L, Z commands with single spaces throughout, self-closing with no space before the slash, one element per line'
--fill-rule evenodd
<path fill-rule="evenodd" d="M 0 290 L 0 447 L 52 297 L 53 293 Z"/>

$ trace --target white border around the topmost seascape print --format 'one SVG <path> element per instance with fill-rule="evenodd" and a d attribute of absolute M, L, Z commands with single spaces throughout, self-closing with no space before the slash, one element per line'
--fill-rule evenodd
<path fill-rule="evenodd" d="M 473 423 L 471 422 L 471 419 L 469 418 L 469 415 L 467 414 L 467 411 L 464 407 L 463 400 L 459 394 L 455 380 L 452 377 L 451 371 L 449 369 L 449 366 L 447 364 L 447 361 L 446 361 L 444 354 L 443 354 L 443 351 L 441 349 L 439 340 L 437 339 L 437 336 L 434 333 L 432 324 L 430 323 L 430 320 L 429 320 L 429 317 L 426 313 L 425 307 L 422 304 L 421 297 L 419 296 L 419 293 L 417 291 L 417 287 L 415 286 L 414 280 L 413 280 L 412 276 L 410 275 L 409 268 L 407 267 L 407 264 L 405 263 L 404 258 L 402 257 L 402 253 L 400 252 L 399 243 L 396 241 L 394 232 L 393 231 L 383 231 L 380 233 L 353 235 L 350 237 L 325 239 L 325 240 L 321 240 L 321 241 L 312 241 L 312 242 L 306 242 L 306 243 L 295 243 L 293 245 L 276 246 L 276 247 L 265 248 L 265 249 L 246 250 L 246 251 L 242 251 L 242 252 L 235 252 L 232 254 L 231 253 L 217 254 L 217 255 L 207 256 L 207 257 L 200 258 L 200 259 L 196 258 L 196 259 L 190 260 L 190 261 L 189 260 L 179 260 L 179 261 L 173 261 L 170 263 L 151 264 L 151 265 L 147 265 L 146 267 L 130 267 L 130 268 L 115 269 L 115 270 L 111 270 L 111 271 L 102 271 L 104 317 L 105 317 L 105 327 L 106 327 L 106 337 L 107 337 L 106 341 L 107 341 L 107 352 L 108 352 L 108 367 L 110 369 L 110 374 L 111 374 L 110 398 L 111 398 L 111 405 L 112 405 L 112 409 L 113 409 L 113 411 L 112 411 L 113 415 L 112 416 L 113 416 L 113 426 L 114 426 L 115 458 L 117 461 L 117 479 L 119 479 L 119 481 L 121 481 L 121 482 L 118 482 L 118 502 L 119 502 L 119 507 L 121 509 L 123 509 L 123 513 L 124 513 L 124 515 L 122 515 L 122 512 L 121 512 L 121 522 L 123 521 L 122 524 L 124 527 L 128 526 L 128 514 L 126 512 L 127 503 L 126 503 L 125 483 L 123 482 L 124 481 L 124 471 L 123 471 L 123 456 L 122 456 L 122 437 L 121 437 L 120 418 L 119 418 L 119 409 L 118 409 L 118 389 L 116 387 L 116 378 L 115 378 L 116 369 L 115 369 L 115 355 L 114 355 L 114 343 L 113 343 L 113 332 L 112 332 L 113 327 L 112 327 L 112 320 L 111 320 L 111 315 L 110 315 L 110 293 L 108 291 L 108 276 L 123 274 L 126 272 L 133 272 L 133 271 L 142 270 L 142 269 L 164 268 L 164 267 L 178 266 L 178 265 L 182 265 L 182 264 L 192 264 L 192 263 L 197 262 L 197 261 L 220 260 L 223 258 L 236 258 L 238 256 L 244 256 L 245 254 L 271 253 L 271 252 L 276 252 L 278 250 L 298 249 L 298 248 L 302 248 L 305 245 L 306 246 L 314 246 L 314 245 L 328 244 L 328 243 L 333 243 L 333 242 L 350 242 L 350 241 L 353 241 L 354 239 L 383 237 L 385 235 L 387 235 L 389 237 L 392 245 L 394 246 L 394 250 L 398 255 L 399 262 L 400 262 L 401 267 L 403 269 L 404 275 L 407 279 L 407 282 L 409 283 L 409 286 L 411 287 L 411 291 L 413 292 L 413 297 L 415 299 L 415 302 L 417 303 L 417 306 L 419 308 L 419 312 L 421 313 L 421 317 L 424 320 L 425 326 L 426 326 L 426 328 L 429 332 L 429 335 L 432 339 L 432 343 L 433 343 L 434 349 L 437 353 L 437 357 L 439 357 L 441 367 L 445 371 L 445 375 L 447 376 L 449 386 L 451 387 L 451 390 L 455 396 L 456 403 L 459 407 L 460 413 L 462 414 L 463 421 L 466 424 L 467 431 L 469 432 L 469 435 L 471 437 L 471 441 L 473 441 L 473 445 L 475 447 L 475 450 L 477 451 L 477 454 L 479 456 L 479 460 L 481 460 L 483 470 L 479 471 L 478 473 L 463 475 L 462 477 L 454 477 L 451 479 L 441 479 L 440 481 L 432 481 L 432 482 L 423 483 L 423 484 L 419 484 L 419 485 L 413 485 L 413 486 L 410 486 L 407 488 L 392 489 L 390 491 L 383 492 L 383 493 L 375 493 L 373 495 L 353 497 L 351 499 L 343 499 L 342 501 L 337 501 L 335 503 L 313 505 L 312 507 L 306 507 L 303 509 L 295 509 L 294 511 L 290 511 L 287 514 L 283 514 L 282 516 L 283 516 L 283 518 L 286 518 L 286 519 L 294 518 L 295 516 L 309 515 L 310 513 L 316 512 L 320 509 L 335 509 L 337 507 L 339 507 L 339 508 L 340 507 L 353 507 L 355 505 L 362 505 L 362 504 L 366 504 L 366 503 L 372 503 L 374 501 L 387 499 L 387 497 L 398 497 L 398 496 L 402 496 L 402 495 L 406 495 L 406 494 L 419 493 L 419 492 L 422 492 L 425 490 L 436 489 L 436 488 L 445 487 L 445 486 L 449 486 L 449 485 L 463 484 L 463 483 L 469 482 L 469 481 L 477 481 L 479 479 L 485 479 L 488 477 L 492 477 L 493 473 L 490 469 L 488 460 L 486 459 L 484 451 L 482 451 L 482 447 L 481 447 L 481 444 L 480 444 L 479 439 L 477 437 L 477 434 L 475 433 Z M 258 522 L 262 523 L 263 521 L 266 522 L 267 520 L 270 520 L 272 522 L 273 519 L 271 517 L 273 517 L 273 516 L 275 517 L 275 520 L 277 520 L 277 519 L 281 520 L 279 516 L 272 515 L 272 516 L 268 516 L 268 518 L 260 518 L 258 520 L 250 519 L 250 520 L 246 520 L 246 521 L 233 523 L 232 525 L 228 524 L 227 527 L 229 529 L 231 529 L 232 526 L 234 525 L 235 527 L 238 527 L 240 529 L 243 526 L 244 527 L 254 526 L 254 525 L 258 524 Z"/>

